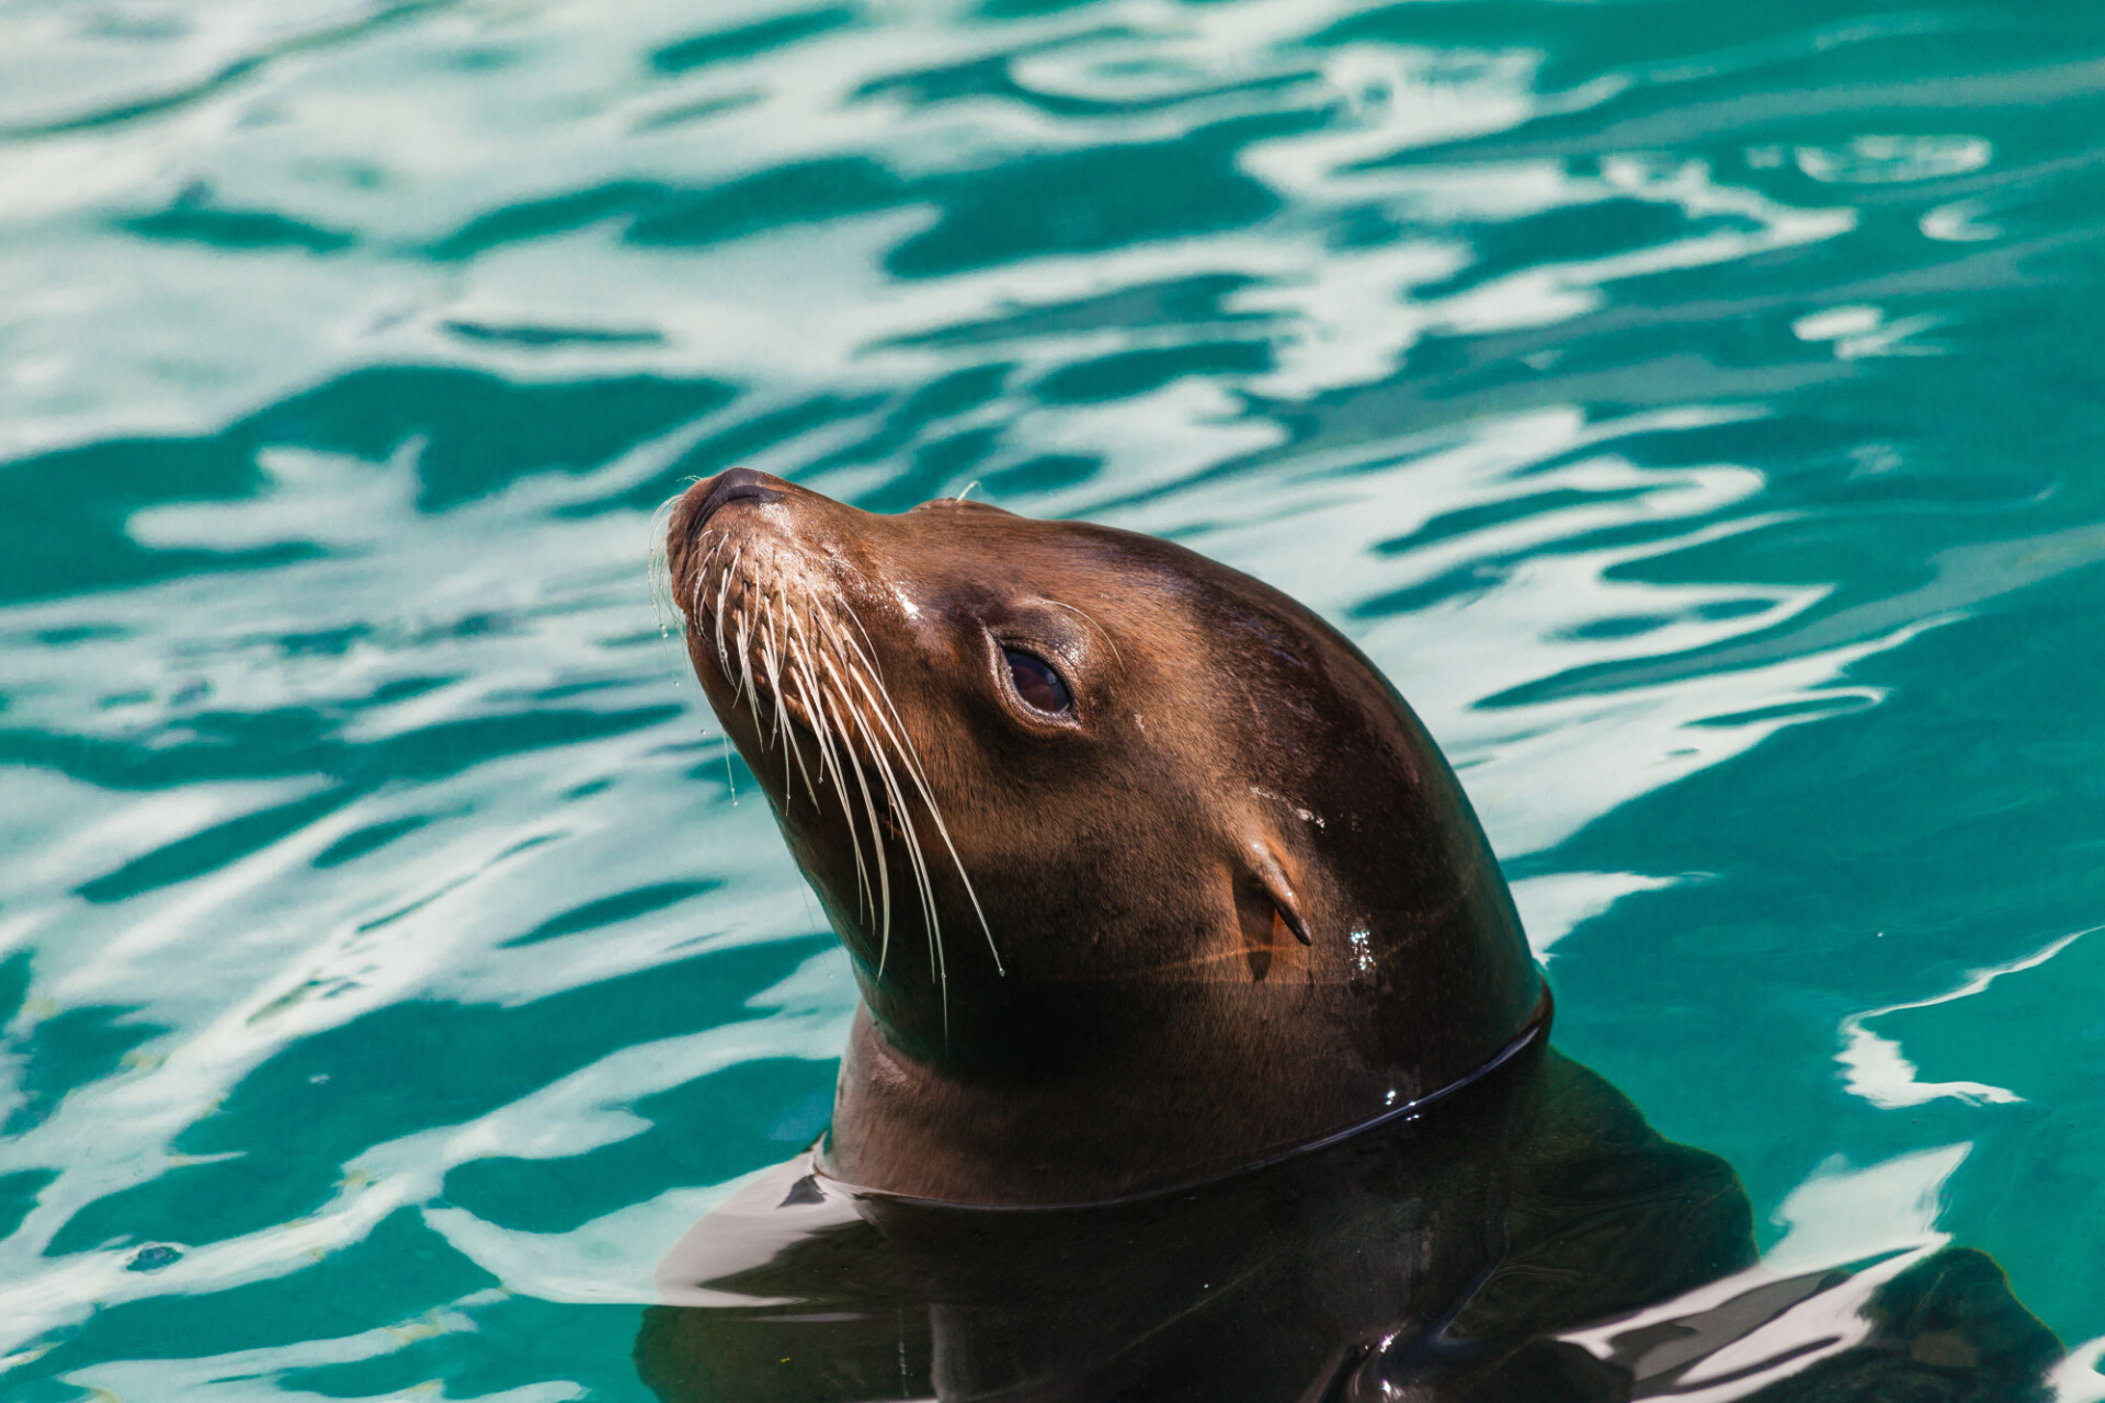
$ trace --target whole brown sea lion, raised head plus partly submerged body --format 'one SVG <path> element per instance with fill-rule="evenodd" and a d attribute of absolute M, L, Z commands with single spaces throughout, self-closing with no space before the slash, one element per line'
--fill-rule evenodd
<path fill-rule="evenodd" d="M 709 1292 L 646 1323 L 661 1395 L 1650 1397 L 1781 1321 L 1716 1397 L 1989 1399 L 2052 1355 L 1964 1254 L 1553 1342 L 1756 1270 L 1745 1197 L 1543 1045 L 1455 776 L 1290 599 L 749 471 L 667 551 L 863 1008 L 815 1163 L 667 1262 Z"/>

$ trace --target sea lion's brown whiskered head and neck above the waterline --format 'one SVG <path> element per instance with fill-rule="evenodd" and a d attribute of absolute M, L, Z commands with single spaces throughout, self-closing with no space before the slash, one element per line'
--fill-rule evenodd
<path fill-rule="evenodd" d="M 749 469 L 680 499 L 667 564 L 867 1005 L 840 1161 L 956 1191 L 844 1119 L 1036 1106 L 985 1153 L 1057 1195 L 1069 1151 L 1031 1117 L 1059 1106 L 1074 1155 L 1128 1161 L 1092 1191 L 1172 1182 L 1425 1096 L 1539 1008 L 1455 774 L 1276 589 L 1126 530 L 874 515 Z"/>

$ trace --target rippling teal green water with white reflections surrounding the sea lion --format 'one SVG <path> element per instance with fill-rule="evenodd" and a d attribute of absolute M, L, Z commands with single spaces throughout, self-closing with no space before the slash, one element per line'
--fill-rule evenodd
<path fill-rule="evenodd" d="M 2101 236 L 2090 4 L 0 4 L 6 1397 L 644 1397 L 853 999 L 728 465 L 1322 610 L 1560 1043 L 2105 1397 Z"/>

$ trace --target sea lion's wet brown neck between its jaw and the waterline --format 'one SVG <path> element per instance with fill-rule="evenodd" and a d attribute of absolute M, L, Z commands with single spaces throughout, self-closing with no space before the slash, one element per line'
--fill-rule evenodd
<path fill-rule="evenodd" d="M 1328 907 L 1316 911 L 1318 932 L 1335 930 Z M 1497 930 L 1461 902 L 1406 940 L 1295 942 L 1301 959 L 1282 951 L 1265 980 L 1040 991 L 1038 1008 L 1019 1014 L 1017 999 L 970 1043 L 954 1014 L 960 1043 L 941 1050 L 901 1039 L 865 1001 L 821 1163 L 890 1193 L 1023 1205 L 1122 1199 L 1278 1157 L 1467 1083 L 1541 1029 L 1539 972 L 1524 947 L 1488 938 Z M 1366 951 L 1404 968 L 1362 976 Z"/>

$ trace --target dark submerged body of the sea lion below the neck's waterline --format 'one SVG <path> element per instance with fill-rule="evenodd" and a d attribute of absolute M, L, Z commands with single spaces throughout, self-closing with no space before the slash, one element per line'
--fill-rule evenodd
<path fill-rule="evenodd" d="M 1541 1045 L 1419 1121 L 1194 1193 L 1006 1212 L 791 1163 L 741 1199 L 661 1268 L 680 1304 L 638 1365 L 665 1399 L 1490 1401 L 1602 1374 L 1530 1353 L 1547 1327 L 1753 1256 L 1722 1161 Z"/>

